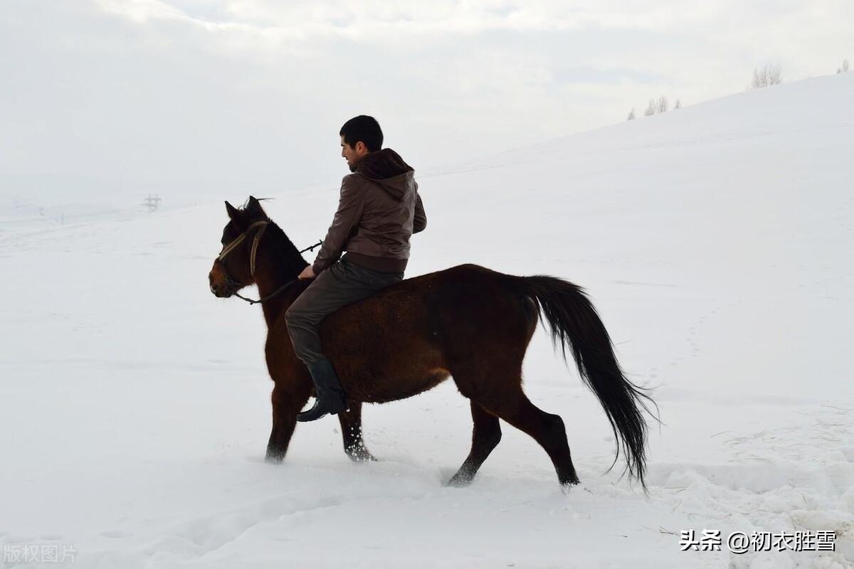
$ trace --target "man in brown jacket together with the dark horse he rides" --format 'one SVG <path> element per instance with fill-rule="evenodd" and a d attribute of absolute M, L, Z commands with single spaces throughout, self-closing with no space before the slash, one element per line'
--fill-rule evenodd
<path fill-rule="evenodd" d="M 401 280 L 409 238 L 426 223 L 412 168 L 381 149 L 379 125 L 369 117 L 348 121 L 341 136 L 342 156 L 354 173 L 344 177 L 341 203 L 314 264 L 250 195 L 241 209 L 225 202 L 222 250 L 208 272 L 218 298 L 258 287 L 259 300 L 240 298 L 262 305 L 267 325 L 264 352 L 274 382 L 267 460 L 284 459 L 297 416 L 312 421 L 328 413 L 338 415 L 348 456 L 371 460 L 361 436 L 362 404 L 399 401 L 453 378 L 471 404 L 473 430 L 471 452 L 449 484 L 471 483 L 500 442 L 500 420 L 540 444 L 562 486 L 578 484 L 563 419 L 537 407 L 522 386 L 539 321 L 564 359 L 569 353 L 575 360 L 611 423 L 617 454 L 643 485 L 645 415 L 657 418 L 647 406 L 655 402 L 626 377 L 584 289 L 555 276 L 517 276 L 477 264 Z M 300 413 L 312 386 L 317 401 Z"/>

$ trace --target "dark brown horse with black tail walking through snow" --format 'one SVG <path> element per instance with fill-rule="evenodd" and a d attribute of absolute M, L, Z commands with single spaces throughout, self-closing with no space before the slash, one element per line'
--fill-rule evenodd
<path fill-rule="evenodd" d="M 223 253 L 213 262 L 211 291 L 227 298 L 258 286 L 268 328 L 266 363 L 272 390 L 272 433 L 267 460 L 288 450 L 295 417 L 313 391 L 294 354 L 284 313 L 307 287 L 295 281 L 307 262 L 258 200 L 244 209 L 225 203 L 231 220 Z M 261 238 L 263 237 L 263 238 Z M 225 256 L 227 254 L 227 257 Z M 416 276 L 330 315 L 321 326 L 324 349 L 347 392 L 338 415 L 344 450 L 373 460 L 361 437 L 361 404 L 412 397 L 453 377 L 471 400 L 471 452 L 450 484 L 471 482 L 501 439 L 499 419 L 533 437 L 552 459 L 561 485 L 576 484 L 564 421 L 538 409 L 522 391 L 522 360 L 538 318 L 545 319 L 566 357 L 599 398 L 622 450 L 629 476 L 644 482 L 646 421 L 652 402 L 623 375 L 605 326 L 580 287 L 552 276 L 512 276 L 463 264 Z M 617 457 L 615 456 L 615 462 Z M 611 465 L 613 466 L 613 465 Z"/>

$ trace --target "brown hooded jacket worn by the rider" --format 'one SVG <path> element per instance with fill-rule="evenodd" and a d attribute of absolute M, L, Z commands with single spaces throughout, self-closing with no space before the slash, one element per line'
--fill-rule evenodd
<path fill-rule="evenodd" d="M 391 148 L 366 154 L 341 181 L 338 211 L 317 258 L 315 274 L 347 251 L 367 269 L 403 272 L 409 237 L 427 226 L 415 171 Z"/>

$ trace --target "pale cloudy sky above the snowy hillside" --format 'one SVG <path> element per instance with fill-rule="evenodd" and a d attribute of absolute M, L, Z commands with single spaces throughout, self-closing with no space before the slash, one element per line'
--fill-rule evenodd
<path fill-rule="evenodd" d="M 417 171 L 854 61 L 854 3 L 0 0 L 0 199 L 335 185 L 357 114 Z"/>

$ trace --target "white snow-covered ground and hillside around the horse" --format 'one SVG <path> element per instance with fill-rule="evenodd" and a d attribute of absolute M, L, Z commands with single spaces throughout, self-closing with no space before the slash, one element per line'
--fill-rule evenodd
<path fill-rule="evenodd" d="M 208 291 L 221 202 L 5 217 L 5 564 L 56 566 L 56 547 L 105 568 L 852 566 L 852 103 L 840 74 L 419 171 L 409 276 L 474 262 L 591 293 L 623 367 L 656 387 L 648 496 L 621 464 L 605 473 L 610 427 L 542 331 L 526 390 L 566 423 L 582 479 L 567 494 L 508 426 L 474 484 L 444 486 L 471 437 L 450 381 L 366 407 L 379 462 L 350 462 L 327 418 L 266 464 L 260 310 Z M 266 209 L 309 245 L 336 193 Z M 836 551 L 683 552 L 682 530 L 835 531 Z"/>

